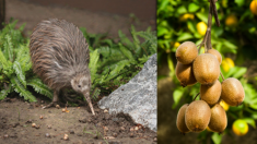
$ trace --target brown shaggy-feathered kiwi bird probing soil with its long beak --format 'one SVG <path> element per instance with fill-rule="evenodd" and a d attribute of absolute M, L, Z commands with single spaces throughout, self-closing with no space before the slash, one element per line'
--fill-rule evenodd
<path fill-rule="evenodd" d="M 33 71 L 54 91 L 48 108 L 59 103 L 59 94 L 73 88 L 84 95 L 93 115 L 90 98 L 90 51 L 82 32 L 65 20 L 49 19 L 37 24 L 31 35 Z"/>

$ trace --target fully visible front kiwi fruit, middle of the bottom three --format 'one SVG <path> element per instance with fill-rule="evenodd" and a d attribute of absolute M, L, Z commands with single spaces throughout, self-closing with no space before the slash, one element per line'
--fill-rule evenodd
<path fill-rule="evenodd" d="M 186 125 L 192 132 L 206 130 L 210 122 L 210 118 L 211 109 L 203 100 L 195 100 L 186 109 Z"/>

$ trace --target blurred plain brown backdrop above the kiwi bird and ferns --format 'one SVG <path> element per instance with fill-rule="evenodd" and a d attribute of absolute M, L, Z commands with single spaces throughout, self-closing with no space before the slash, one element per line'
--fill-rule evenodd
<path fill-rule="evenodd" d="M 148 26 L 155 29 L 154 0 L 0 0 L 1 13 L 5 1 L 5 14 L 0 21 L 19 20 L 16 26 L 26 23 L 27 33 L 44 19 L 58 17 L 85 27 L 89 33 L 108 33 L 116 37 L 118 29 L 129 34 L 131 24 L 137 31 Z M 27 34 L 26 34 L 27 35 Z"/>

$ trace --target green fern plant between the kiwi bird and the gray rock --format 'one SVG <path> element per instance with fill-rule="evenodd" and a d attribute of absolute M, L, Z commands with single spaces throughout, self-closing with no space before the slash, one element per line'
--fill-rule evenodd
<path fill-rule="evenodd" d="M 156 52 L 156 36 L 151 29 L 136 32 L 131 26 L 132 41 L 119 31 L 118 43 L 106 38 L 106 35 L 89 35 L 81 28 L 85 37 L 91 39 L 90 70 L 92 91 L 100 94 L 110 93 L 120 84 L 127 83 L 143 67 L 143 63 Z M 95 38 L 92 38 L 95 37 Z M 141 43 L 139 37 L 143 38 Z M 100 46 L 100 47 L 98 47 Z M 93 97 L 97 97 L 97 94 Z"/>

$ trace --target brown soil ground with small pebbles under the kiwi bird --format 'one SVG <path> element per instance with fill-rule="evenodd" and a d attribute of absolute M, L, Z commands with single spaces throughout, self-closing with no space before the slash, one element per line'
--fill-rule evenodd
<path fill-rule="evenodd" d="M 0 101 L 0 143 L 156 143 L 156 133 L 135 123 L 128 115 L 109 115 L 97 104 L 94 104 L 96 116 L 89 106 L 42 109 L 49 101 L 37 100 L 39 103 L 27 103 L 14 97 Z M 33 123 L 39 128 L 33 128 Z"/>

